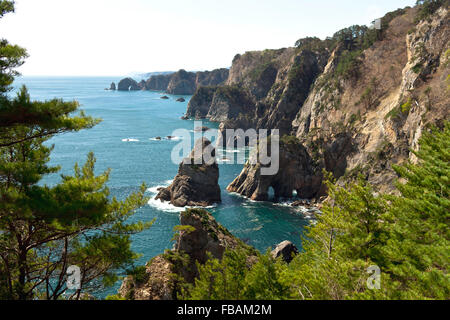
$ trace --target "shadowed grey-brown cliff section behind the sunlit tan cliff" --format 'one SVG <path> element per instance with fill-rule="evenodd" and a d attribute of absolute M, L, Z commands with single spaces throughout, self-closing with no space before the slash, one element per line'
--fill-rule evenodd
<path fill-rule="evenodd" d="M 306 99 L 310 86 L 323 70 L 329 52 L 287 48 L 247 52 L 237 55 L 228 80 L 214 92 L 212 98 L 202 99 L 199 115 L 211 121 L 230 122 L 238 117 L 253 119 L 254 128 L 272 128 L 282 134 L 292 129 L 292 119 Z M 188 109 L 188 117 L 197 111 L 196 92 Z M 212 92 L 210 92 L 212 94 Z M 192 112 L 195 110 L 195 112 Z"/>

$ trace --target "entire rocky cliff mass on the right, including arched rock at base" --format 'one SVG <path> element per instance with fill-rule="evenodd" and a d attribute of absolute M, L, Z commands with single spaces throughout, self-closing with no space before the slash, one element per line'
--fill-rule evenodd
<path fill-rule="evenodd" d="M 326 169 L 342 182 L 363 174 L 389 192 L 392 165 L 414 161 L 410 149 L 423 130 L 449 118 L 443 3 L 434 12 L 418 6 L 388 13 L 380 30 L 352 26 L 326 40 L 301 39 L 296 48 L 237 55 L 226 84 L 198 89 L 187 116 L 219 121 L 221 132 L 279 129 L 299 143 L 298 154 L 282 150 L 276 176 L 262 177 L 247 164 L 228 189 L 253 199 L 265 199 L 269 187 L 280 196 L 300 189 L 299 196 L 317 197 Z M 220 90 L 230 94 L 216 99 Z"/>

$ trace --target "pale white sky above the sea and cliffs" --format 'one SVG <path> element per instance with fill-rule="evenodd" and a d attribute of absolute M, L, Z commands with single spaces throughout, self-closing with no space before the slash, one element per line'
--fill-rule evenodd
<path fill-rule="evenodd" d="M 16 0 L 0 37 L 25 76 L 122 76 L 230 67 L 237 53 L 369 24 L 415 0 Z"/>

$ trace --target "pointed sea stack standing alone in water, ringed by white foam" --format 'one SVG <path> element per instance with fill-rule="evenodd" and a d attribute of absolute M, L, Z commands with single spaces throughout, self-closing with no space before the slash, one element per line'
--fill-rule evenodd
<path fill-rule="evenodd" d="M 190 156 L 178 170 L 173 183 L 160 190 L 156 199 L 169 201 L 177 207 L 210 206 L 221 202 L 219 166 L 215 161 L 215 149 L 202 138 L 196 141 Z"/>

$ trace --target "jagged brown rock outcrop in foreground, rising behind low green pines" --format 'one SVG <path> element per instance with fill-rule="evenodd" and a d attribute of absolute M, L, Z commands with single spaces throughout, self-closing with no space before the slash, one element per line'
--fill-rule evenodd
<path fill-rule="evenodd" d="M 201 209 L 188 209 L 180 214 L 181 226 L 172 250 L 150 260 L 145 273 L 138 277 L 128 276 L 119 290 L 121 297 L 130 300 L 176 299 L 177 281 L 181 277 L 193 283 L 198 275 L 196 263 L 203 264 L 207 253 L 221 259 L 225 250 L 243 249 L 249 260 L 255 258 L 256 250 L 235 238 L 218 224 L 212 215 Z"/>

